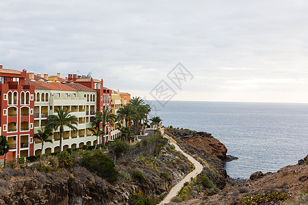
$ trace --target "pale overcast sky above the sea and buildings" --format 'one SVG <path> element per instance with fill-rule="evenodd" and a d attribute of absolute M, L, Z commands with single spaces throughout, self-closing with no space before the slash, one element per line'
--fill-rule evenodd
<path fill-rule="evenodd" d="M 162 99 L 153 90 L 163 81 L 174 92 L 167 100 L 308 103 L 308 1 L 16 0 L 0 8 L 3 68 L 92 72 L 147 100 Z M 168 74 L 179 63 L 190 76 L 177 87 Z"/>

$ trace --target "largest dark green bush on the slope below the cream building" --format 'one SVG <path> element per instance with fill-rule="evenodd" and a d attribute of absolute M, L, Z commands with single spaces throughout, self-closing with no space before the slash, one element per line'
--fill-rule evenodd
<path fill-rule="evenodd" d="M 94 172 L 98 176 L 105 178 L 110 183 L 118 181 L 118 170 L 116 170 L 114 161 L 103 154 L 101 150 L 96 150 L 84 156 L 82 165 L 90 170 L 90 172 Z"/>

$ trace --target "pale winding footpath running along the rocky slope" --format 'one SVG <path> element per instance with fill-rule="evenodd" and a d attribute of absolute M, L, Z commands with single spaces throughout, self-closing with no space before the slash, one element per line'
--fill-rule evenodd
<path fill-rule="evenodd" d="M 159 204 L 159 205 L 164 205 L 164 204 L 170 203 L 170 200 L 172 199 L 172 197 L 175 197 L 177 195 L 177 193 L 183 187 L 185 182 L 190 182 L 190 178 L 195 178 L 198 174 L 200 174 L 202 172 L 203 165 L 201 165 L 201 163 L 196 161 L 189 154 L 186 154 L 185 152 L 183 152 L 183 150 L 181 150 L 181 148 L 179 148 L 179 146 L 177 145 L 177 142 L 174 139 L 172 139 L 171 137 L 169 137 L 168 135 L 165 135 L 164 131 L 161 131 L 161 132 L 164 135 L 164 137 L 170 139 L 171 144 L 173 144 L 175 146 L 175 150 L 181 152 L 184 156 L 187 156 L 188 160 L 191 161 L 194 164 L 194 167 L 196 167 L 196 169 L 194 169 L 194 171 L 192 171 L 188 175 L 186 175 L 185 178 L 183 178 L 183 180 L 181 180 L 178 184 L 175 185 L 175 187 L 172 187 L 172 189 L 170 190 L 168 195 Z"/>

